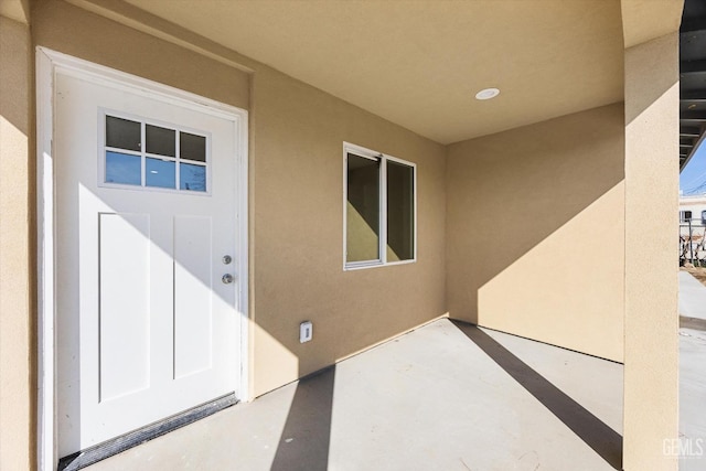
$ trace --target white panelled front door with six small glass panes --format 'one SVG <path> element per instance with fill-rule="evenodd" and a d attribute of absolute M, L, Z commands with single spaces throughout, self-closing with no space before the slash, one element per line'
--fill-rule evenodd
<path fill-rule="evenodd" d="M 238 120 L 113 81 L 54 86 L 64 457 L 239 395 Z"/>

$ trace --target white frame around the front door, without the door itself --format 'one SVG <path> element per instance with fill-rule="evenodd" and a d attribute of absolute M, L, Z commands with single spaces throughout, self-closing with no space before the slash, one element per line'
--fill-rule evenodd
<path fill-rule="evenodd" d="M 57 73 L 98 84 L 126 87 L 145 96 L 158 96 L 170 104 L 217 116 L 236 125 L 237 195 L 236 233 L 238 292 L 236 312 L 239 319 L 240 364 L 239 399 L 247 402 L 248 383 L 248 113 L 200 95 L 184 92 L 147 78 L 94 64 L 46 47 L 36 47 L 36 281 L 38 281 L 38 467 L 56 469 L 56 267 L 54 222 L 54 84 Z"/>

